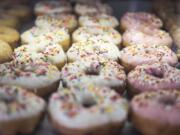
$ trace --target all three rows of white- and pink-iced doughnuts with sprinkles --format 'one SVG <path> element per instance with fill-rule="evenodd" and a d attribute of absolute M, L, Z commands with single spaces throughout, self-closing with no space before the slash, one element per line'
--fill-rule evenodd
<path fill-rule="evenodd" d="M 3 135 L 32 132 L 46 110 L 41 97 L 54 91 L 47 110 L 62 134 L 116 134 L 128 114 L 143 135 L 180 133 L 178 58 L 157 16 L 128 12 L 119 23 L 98 1 L 41 1 L 34 12 L 35 26 L 0 64 Z"/>

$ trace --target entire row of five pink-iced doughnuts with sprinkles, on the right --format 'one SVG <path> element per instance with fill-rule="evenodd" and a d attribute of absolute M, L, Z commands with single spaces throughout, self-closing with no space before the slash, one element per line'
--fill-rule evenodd
<path fill-rule="evenodd" d="M 128 72 L 130 115 L 143 135 L 180 134 L 180 70 L 173 41 L 162 26 L 158 17 L 146 12 L 127 12 L 120 20 L 120 61 Z"/>

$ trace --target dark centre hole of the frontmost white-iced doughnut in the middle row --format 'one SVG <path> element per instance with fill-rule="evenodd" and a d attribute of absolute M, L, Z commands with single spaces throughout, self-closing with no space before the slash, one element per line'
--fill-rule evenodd
<path fill-rule="evenodd" d="M 97 103 L 92 96 L 86 95 L 86 96 L 83 96 L 81 104 L 84 108 L 91 108 L 95 106 Z"/>

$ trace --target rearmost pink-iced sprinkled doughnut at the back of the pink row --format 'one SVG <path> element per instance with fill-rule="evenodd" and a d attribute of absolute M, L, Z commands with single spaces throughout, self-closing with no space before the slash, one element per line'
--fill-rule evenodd
<path fill-rule="evenodd" d="M 127 12 L 120 20 L 122 30 L 134 28 L 161 28 L 163 22 L 154 14 L 146 12 Z"/>

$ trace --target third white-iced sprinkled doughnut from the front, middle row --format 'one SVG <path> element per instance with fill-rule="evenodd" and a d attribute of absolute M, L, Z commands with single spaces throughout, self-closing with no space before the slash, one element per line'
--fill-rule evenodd
<path fill-rule="evenodd" d="M 94 42 L 77 42 L 72 44 L 67 51 L 68 62 L 73 62 L 93 55 L 119 61 L 120 51 L 114 44 Z"/>

